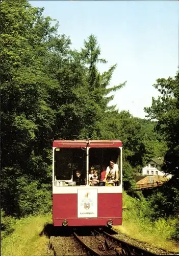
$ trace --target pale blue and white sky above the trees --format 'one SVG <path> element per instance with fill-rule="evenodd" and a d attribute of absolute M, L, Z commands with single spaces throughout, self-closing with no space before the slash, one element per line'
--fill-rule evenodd
<path fill-rule="evenodd" d="M 178 1 L 29 1 L 44 7 L 44 16 L 58 20 L 59 34 L 70 36 L 80 50 L 90 34 L 97 36 L 104 72 L 117 63 L 110 86 L 126 82 L 111 104 L 144 118 L 158 78 L 174 77 L 178 69 Z"/>

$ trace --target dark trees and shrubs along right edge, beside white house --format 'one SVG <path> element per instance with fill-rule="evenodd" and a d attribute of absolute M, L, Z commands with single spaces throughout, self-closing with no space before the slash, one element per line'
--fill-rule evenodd
<path fill-rule="evenodd" d="M 150 198 L 151 207 L 155 209 L 154 217 L 177 216 L 179 212 L 179 72 L 174 78 L 157 79 L 154 87 L 160 92 L 158 99 L 152 98 L 150 108 L 145 112 L 151 119 L 157 119 L 157 131 L 163 134 L 168 151 L 165 154 L 163 171 L 173 177 L 160 193 Z"/>

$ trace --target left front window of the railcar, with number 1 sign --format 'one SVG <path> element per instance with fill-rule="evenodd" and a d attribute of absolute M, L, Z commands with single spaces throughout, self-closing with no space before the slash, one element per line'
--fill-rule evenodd
<path fill-rule="evenodd" d="M 86 151 L 81 148 L 55 148 L 55 186 L 86 185 Z"/>

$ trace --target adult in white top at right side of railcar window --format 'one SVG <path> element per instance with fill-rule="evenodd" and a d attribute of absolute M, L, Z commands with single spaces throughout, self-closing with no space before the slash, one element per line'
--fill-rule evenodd
<path fill-rule="evenodd" d="M 119 167 L 115 164 L 114 160 L 110 161 L 110 165 L 106 169 L 105 179 L 103 180 L 107 184 L 115 185 L 114 182 L 118 181 Z"/>

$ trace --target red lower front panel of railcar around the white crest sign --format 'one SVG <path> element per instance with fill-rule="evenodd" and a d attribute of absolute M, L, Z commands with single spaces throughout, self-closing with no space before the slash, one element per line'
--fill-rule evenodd
<path fill-rule="evenodd" d="M 68 226 L 106 226 L 108 220 L 122 224 L 122 193 L 98 194 L 97 201 L 97 218 L 78 218 L 78 195 L 54 194 L 54 226 L 62 226 L 64 220 Z"/>

